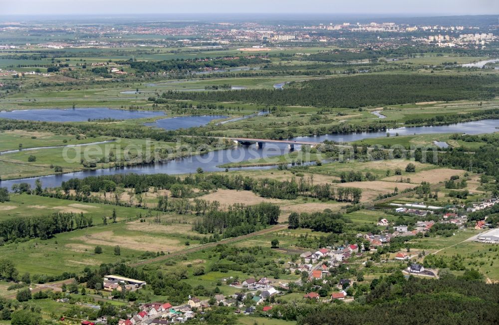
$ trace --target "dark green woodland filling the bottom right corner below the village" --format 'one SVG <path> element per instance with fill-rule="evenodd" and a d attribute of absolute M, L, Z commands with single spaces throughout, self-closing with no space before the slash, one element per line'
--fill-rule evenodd
<path fill-rule="evenodd" d="M 410 277 L 398 271 L 374 279 L 367 295 L 354 304 L 288 303 L 272 309 L 272 317 L 300 325 L 492 325 L 499 322 L 499 285 L 480 281 L 476 271 L 440 280 Z"/>

